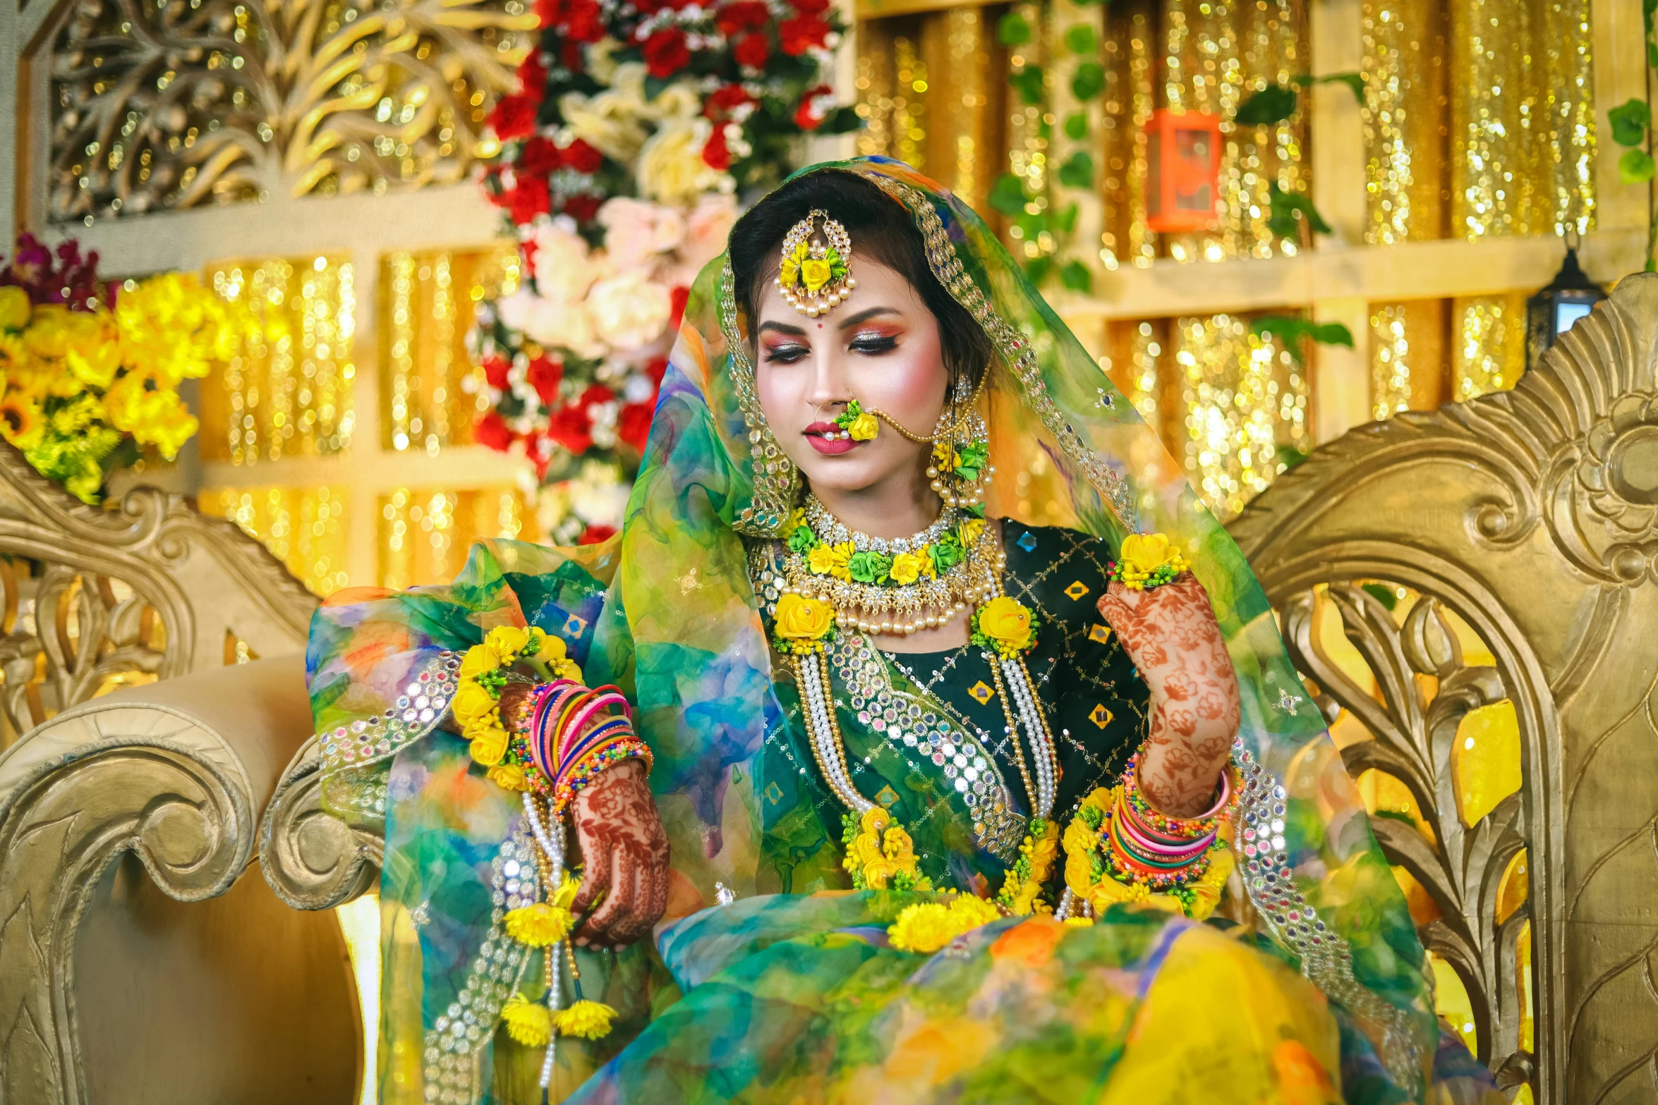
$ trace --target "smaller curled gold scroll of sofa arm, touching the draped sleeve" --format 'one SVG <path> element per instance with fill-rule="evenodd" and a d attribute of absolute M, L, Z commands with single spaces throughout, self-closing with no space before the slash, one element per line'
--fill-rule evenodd
<path fill-rule="evenodd" d="M 322 808 L 322 757 L 312 737 L 282 772 L 259 830 L 265 881 L 295 910 L 332 910 L 380 880 L 385 838 Z"/>

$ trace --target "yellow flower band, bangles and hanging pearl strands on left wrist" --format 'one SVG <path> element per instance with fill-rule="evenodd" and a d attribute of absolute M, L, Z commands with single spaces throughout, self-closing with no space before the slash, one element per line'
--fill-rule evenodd
<path fill-rule="evenodd" d="M 527 692 L 504 716 L 501 699 L 507 684 L 524 684 Z M 547 1045 L 541 1072 L 545 1087 L 552 1078 L 555 1035 L 599 1039 L 610 1032 L 615 1017 L 610 1006 L 582 997 L 575 949 L 567 939 L 575 926 L 570 903 L 579 881 L 565 868 L 564 813 L 604 769 L 642 759 L 648 770 L 650 749 L 633 734 L 622 692 L 613 686 L 582 686 L 582 671 L 565 656 L 564 641 L 534 626 L 497 626 L 482 644 L 473 646 L 461 661 L 451 709 L 473 759 L 486 767 L 491 782 L 522 794 L 539 850 L 536 878 L 526 875 L 522 883 L 545 888 L 545 898 L 507 910 L 504 926 L 517 943 L 544 951 L 547 994 L 544 1002 L 514 994 L 501 1016 L 519 1044 Z M 560 951 L 575 991 L 567 1007 L 560 1007 Z"/>

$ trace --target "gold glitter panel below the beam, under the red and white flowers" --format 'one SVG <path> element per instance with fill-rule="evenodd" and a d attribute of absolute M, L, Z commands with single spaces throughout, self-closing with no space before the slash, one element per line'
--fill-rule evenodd
<path fill-rule="evenodd" d="M 446 583 L 486 537 L 536 540 L 534 512 L 517 487 L 400 487 L 380 497 L 380 585 Z"/>

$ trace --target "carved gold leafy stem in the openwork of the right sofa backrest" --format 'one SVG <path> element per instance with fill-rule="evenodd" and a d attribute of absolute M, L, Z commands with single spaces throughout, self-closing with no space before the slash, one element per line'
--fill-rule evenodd
<path fill-rule="evenodd" d="M 1340 613 L 1346 639 L 1376 679 L 1379 697 L 1331 659 L 1320 636 L 1320 605 Z M 1509 795 L 1469 828 L 1462 823 L 1452 775 L 1457 726 L 1469 711 L 1505 697 L 1489 666 L 1467 666 L 1456 631 L 1434 598 L 1418 600 L 1399 625 L 1378 598 L 1353 583 L 1308 590 L 1283 603 L 1283 636 L 1295 666 L 1311 676 L 1321 697 L 1351 711 L 1370 741 L 1348 744 L 1343 759 L 1355 775 L 1379 770 L 1411 792 L 1431 837 L 1414 825 L 1378 817 L 1371 828 L 1388 860 L 1403 866 L 1433 896 L 1439 918 L 1423 941 L 1461 976 L 1474 1007 L 1481 1059 L 1494 1069 L 1514 1057 L 1524 1001 L 1512 963 L 1504 966 L 1497 933 L 1497 891 L 1509 860 L 1524 847 L 1520 800 Z M 1418 676 L 1437 686 L 1423 697 Z M 1328 716 L 1328 712 L 1326 712 Z M 1519 931 L 1520 914 L 1504 918 Z M 1505 1050 L 1504 1050 L 1505 1049 Z"/>

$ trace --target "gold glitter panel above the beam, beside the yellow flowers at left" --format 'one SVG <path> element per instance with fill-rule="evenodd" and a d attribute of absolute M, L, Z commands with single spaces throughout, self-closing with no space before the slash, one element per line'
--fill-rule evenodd
<path fill-rule="evenodd" d="M 351 447 L 355 273 L 338 257 L 224 262 L 207 282 L 259 330 L 202 381 L 201 456 L 252 466 Z"/>

